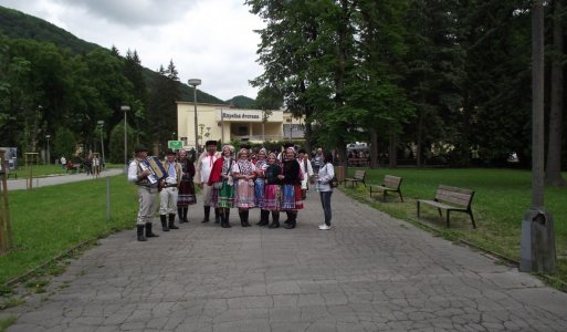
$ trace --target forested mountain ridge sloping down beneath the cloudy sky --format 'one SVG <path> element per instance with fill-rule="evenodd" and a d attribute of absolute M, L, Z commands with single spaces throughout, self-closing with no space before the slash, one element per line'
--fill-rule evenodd
<path fill-rule="evenodd" d="M 23 13 L 21 11 L 0 6 L 0 32 L 10 39 L 32 39 L 39 42 L 51 42 L 59 48 L 69 49 L 72 53 L 85 54 L 97 48 L 105 49 L 98 44 L 84 41 L 69 31 L 61 29 L 43 19 Z M 109 51 L 109 50 L 108 50 Z M 125 50 L 120 50 L 125 52 Z M 144 54 L 139 54 L 144 58 Z M 151 81 L 158 73 L 154 70 L 144 68 L 144 75 L 147 85 L 151 86 Z M 181 101 L 192 102 L 192 87 L 183 82 L 179 84 Z M 237 102 L 233 102 L 233 101 Z M 211 94 L 197 90 L 197 101 L 211 104 L 230 104 L 239 105 L 240 108 L 246 108 L 242 105 L 250 105 L 252 98 L 245 96 L 235 96 L 228 101 L 222 101 Z"/>

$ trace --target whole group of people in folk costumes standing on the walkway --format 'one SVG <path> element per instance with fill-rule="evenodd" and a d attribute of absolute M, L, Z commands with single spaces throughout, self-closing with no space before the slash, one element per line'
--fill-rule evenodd
<path fill-rule="evenodd" d="M 162 230 L 178 229 L 175 225 L 176 208 L 179 222 L 188 222 L 187 209 L 197 203 L 193 183 L 202 191 L 203 219 L 209 222 L 211 210 L 214 222 L 222 228 L 230 228 L 230 210 L 238 208 L 240 224 L 250 227 L 251 208 L 260 208 L 259 226 L 280 227 L 280 212 L 286 214 L 284 228 L 296 227 L 297 215 L 303 209 L 308 184 L 319 193 L 324 211 L 324 222 L 319 229 L 330 229 L 330 180 L 335 176 L 333 156 L 319 148 L 313 162 L 305 151 L 295 151 L 284 146 L 280 154 L 265 148 L 251 158 L 249 147 L 237 153 L 231 145 L 224 145 L 217 152 L 217 142 L 208 141 L 203 152 L 193 164 L 187 158 L 187 152 L 168 151 L 162 162 L 167 177 L 153 180 L 151 172 L 145 169 L 147 149 L 137 147 L 136 157 L 128 168 L 128 180 L 138 186 L 139 211 L 137 217 L 137 236 L 139 241 L 156 237 L 151 231 L 155 211 L 155 197 L 159 193 L 159 215 Z M 270 222 L 270 215 L 272 222 Z"/>

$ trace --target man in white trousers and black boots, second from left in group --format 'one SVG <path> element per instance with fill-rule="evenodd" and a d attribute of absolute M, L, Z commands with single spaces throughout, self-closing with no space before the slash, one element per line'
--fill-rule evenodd
<path fill-rule="evenodd" d="M 176 160 L 176 153 L 167 149 L 164 169 L 167 177 L 161 183 L 161 191 L 159 191 L 159 218 L 161 220 L 161 229 L 169 231 L 170 229 L 179 229 L 175 225 L 177 212 L 177 195 L 179 184 L 181 183 L 181 165 Z M 168 225 L 169 216 L 169 225 Z"/>

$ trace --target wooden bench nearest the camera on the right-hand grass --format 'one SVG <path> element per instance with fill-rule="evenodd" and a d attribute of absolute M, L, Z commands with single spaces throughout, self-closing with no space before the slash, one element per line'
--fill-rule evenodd
<path fill-rule="evenodd" d="M 420 204 L 426 204 L 435 207 L 439 211 L 439 217 L 443 217 L 443 215 L 441 214 L 442 209 L 447 210 L 447 228 L 449 228 L 449 219 L 451 211 L 469 214 L 469 216 L 471 216 L 473 228 L 476 228 L 471 209 L 473 196 L 474 191 L 470 189 L 439 185 L 439 187 L 437 188 L 435 198 L 433 198 L 433 200 L 418 199 L 418 219 Z"/>

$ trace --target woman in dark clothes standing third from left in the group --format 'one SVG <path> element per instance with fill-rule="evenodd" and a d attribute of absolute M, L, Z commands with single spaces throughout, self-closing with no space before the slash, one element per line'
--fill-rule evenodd
<path fill-rule="evenodd" d="M 190 205 L 197 204 L 195 196 L 195 164 L 187 157 L 187 152 L 180 149 L 177 152 L 177 163 L 181 165 L 181 183 L 179 184 L 179 195 L 177 196 L 177 215 L 179 224 L 189 222 L 187 220 L 187 210 Z"/>

